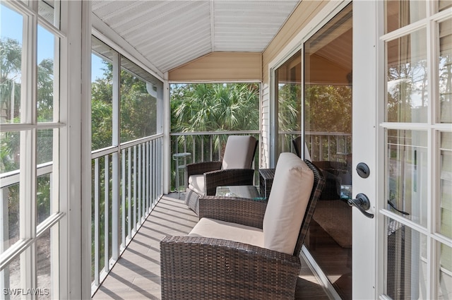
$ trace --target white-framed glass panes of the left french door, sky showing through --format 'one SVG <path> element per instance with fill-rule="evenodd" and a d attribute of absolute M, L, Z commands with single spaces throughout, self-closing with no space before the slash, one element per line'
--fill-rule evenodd
<path fill-rule="evenodd" d="M 1 1 L 0 290 L 60 297 L 58 1 Z"/>

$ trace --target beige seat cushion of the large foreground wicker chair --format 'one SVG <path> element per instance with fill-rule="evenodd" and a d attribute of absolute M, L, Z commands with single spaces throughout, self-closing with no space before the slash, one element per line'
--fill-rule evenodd
<path fill-rule="evenodd" d="M 240 243 L 263 247 L 262 229 L 219 221 L 203 217 L 191 229 L 189 236 L 203 236 L 215 239 L 227 239 Z"/>

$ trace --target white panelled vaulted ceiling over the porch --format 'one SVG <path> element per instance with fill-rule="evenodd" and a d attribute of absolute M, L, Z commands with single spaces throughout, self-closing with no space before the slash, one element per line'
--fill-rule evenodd
<path fill-rule="evenodd" d="M 263 52 L 299 1 L 93 1 L 93 13 L 162 73 L 210 52 Z"/>

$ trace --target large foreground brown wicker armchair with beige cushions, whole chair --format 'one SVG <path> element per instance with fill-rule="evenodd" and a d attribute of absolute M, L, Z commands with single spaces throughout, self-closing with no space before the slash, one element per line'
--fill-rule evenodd
<path fill-rule="evenodd" d="M 162 299 L 294 299 L 323 183 L 314 164 L 282 153 L 268 201 L 201 197 L 189 235 L 160 241 Z"/>

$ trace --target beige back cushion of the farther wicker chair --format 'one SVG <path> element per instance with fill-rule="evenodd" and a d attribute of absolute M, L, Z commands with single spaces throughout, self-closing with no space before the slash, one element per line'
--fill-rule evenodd
<path fill-rule="evenodd" d="M 222 169 L 249 169 L 253 164 L 257 140 L 253 136 L 229 136 Z"/>

